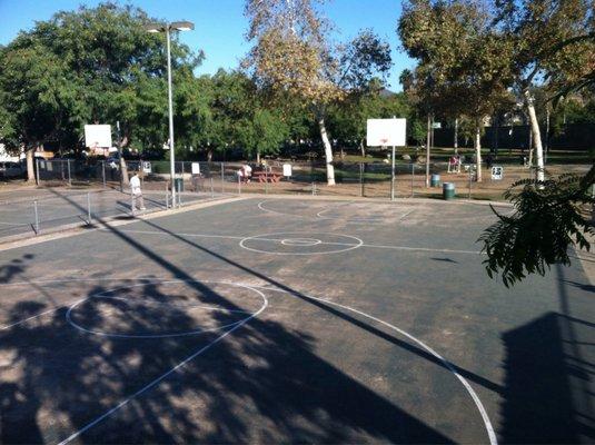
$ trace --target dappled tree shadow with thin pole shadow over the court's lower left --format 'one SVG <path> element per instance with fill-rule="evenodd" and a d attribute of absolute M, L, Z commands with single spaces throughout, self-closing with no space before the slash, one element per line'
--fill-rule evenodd
<path fill-rule="evenodd" d="M 192 281 L 131 237 L 106 227 L 147 260 L 188 280 L 188 286 L 210 303 L 242 309 L 211 287 Z M 24 271 L 22 265 L 19 267 L 11 277 Z M 170 296 L 162 286 L 146 284 L 141 295 L 156 301 L 167 299 Z M 119 299 L 102 301 L 112 307 L 98 310 L 92 296 L 105 293 L 109 289 L 93 287 L 78 308 L 77 320 L 89 330 L 101 330 L 111 323 L 110 314 L 121 313 Z M 48 309 L 46 304 L 21 301 L 11 308 L 8 323 Z M 2 382 L 0 392 L 3 443 L 56 443 L 81 429 L 78 439 L 85 443 L 453 442 L 318 357 L 308 335 L 259 318 L 226 338 L 221 347 L 149 388 L 147 397 L 139 394 L 92 425 L 148 382 L 208 347 L 221 333 L 150 340 L 111 338 L 73 329 L 66 312 L 66 307 L 58 308 L 49 319 L 0 332 L 0 356 L 10 359 L 6 369 L 12 376 Z M 216 324 L 228 322 L 225 313 L 214 312 L 211 317 Z M 138 307 L 127 323 L 121 322 L 125 334 L 151 332 L 155 326 L 181 332 L 196 326 L 175 306 L 169 307 L 167 317 L 150 306 Z M 246 360 L 252 365 L 247 366 Z M 267 429 L 252 424 L 250 411 L 267 422 Z M 92 427 L 85 431 L 89 425 Z"/>

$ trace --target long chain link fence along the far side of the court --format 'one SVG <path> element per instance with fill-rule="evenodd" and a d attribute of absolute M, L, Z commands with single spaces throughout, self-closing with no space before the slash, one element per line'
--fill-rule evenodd
<path fill-rule="evenodd" d="M 493 179 L 488 168 L 482 170 L 482 181 L 476 181 L 475 166 L 466 164 L 458 171 L 449 172 L 447 162 L 335 162 L 335 181 L 329 186 L 324 162 L 290 162 L 291 174 L 284 171 L 284 161 L 268 160 L 266 165 L 251 167 L 251 177 L 239 171 L 246 162 L 175 162 L 176 189 L 182 192 L 209 194 L 291 194 L 320 196 L 351 196 L 379 199 L 416 196 L 440 197 L 444 182 L 455 187 L 456 196 L 468 199 L 503 199 L 510 184 L 534 178 L 535 171 L 525 166 L 504 166 L 502 179 Z M 129 172 L 140 171 L 142 187 L 147 190 L 171 189 L 170 164 L 162 161 L 127 161 Z M 552 168 L 552 166 L 548 166 Z M 564 166 L 564 171 L 586 172 L 588 166 Z M 426 171 L 428 176 L 426 177 Z M 554 171 L 555 172 L 555 171 Z M 93 185 L 106 188 L 120 187 L 120 166 L 108 161 L 72 159 L 38 160 L 37 178 L 42 186 Z M 435 180 L 430 180 L 434 177 Z M 126 191 L 125 185 L 122 190 Z"/>

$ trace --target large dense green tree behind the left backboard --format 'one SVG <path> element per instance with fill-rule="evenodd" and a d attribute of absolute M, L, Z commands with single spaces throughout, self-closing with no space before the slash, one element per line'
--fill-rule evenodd
<path fill-rule="evenodd" d="M 1 49 L 0 90 L 28 154 L 49 140 L 76 148 L 85 123 L 121 122 L 122 146 L 167 139 L 165 41 L 142 10 L 101 3 L 54 14 Z M 175 86 L 201 55 L 173 37 Z M 178 95 L 179 96 L 179 95 Z"/>

